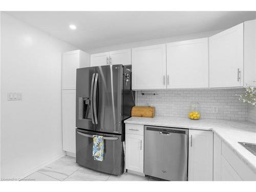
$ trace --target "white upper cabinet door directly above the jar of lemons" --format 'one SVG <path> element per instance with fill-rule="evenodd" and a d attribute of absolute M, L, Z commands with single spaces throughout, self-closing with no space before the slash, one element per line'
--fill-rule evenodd
<path fill-rule="evenodd" d="M 208 38 L 166 44 L 167 88 L 208 88 Z"/>

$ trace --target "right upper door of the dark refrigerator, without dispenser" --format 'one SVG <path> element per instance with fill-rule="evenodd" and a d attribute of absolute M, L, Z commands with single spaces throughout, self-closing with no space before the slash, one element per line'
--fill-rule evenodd
<path fill-rule="evenodd" d="M 123 66 L 96 67 L 94 84 L 95 131 L 122 133 Z"/>

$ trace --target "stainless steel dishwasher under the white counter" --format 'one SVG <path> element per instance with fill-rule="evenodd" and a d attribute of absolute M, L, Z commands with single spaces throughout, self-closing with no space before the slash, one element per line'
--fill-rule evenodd
<path fill-rule="evenodd" d="M 144 125 L 144 174 L 187 181 L 188 129 Z"/>

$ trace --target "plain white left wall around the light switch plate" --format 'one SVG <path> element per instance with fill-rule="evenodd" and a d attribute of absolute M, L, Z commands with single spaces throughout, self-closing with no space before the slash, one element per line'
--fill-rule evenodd
<path fill-rule="evenodd" d="M 1 25 L 1 177 L 13 178 L 63 155 L 61 53 L 77 48 L 6 13 Z"/>

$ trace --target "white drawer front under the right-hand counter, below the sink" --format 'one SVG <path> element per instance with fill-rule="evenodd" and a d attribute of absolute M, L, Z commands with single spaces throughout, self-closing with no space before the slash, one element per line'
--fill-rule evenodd
<path fill-rule="evenodd" d="M 256 181 L 256 174 L 222 141 L 221 154 L 244 181 Z"/>

